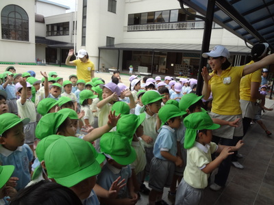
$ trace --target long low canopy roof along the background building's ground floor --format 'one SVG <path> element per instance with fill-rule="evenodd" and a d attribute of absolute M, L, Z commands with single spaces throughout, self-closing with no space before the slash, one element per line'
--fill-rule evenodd
<path fill-rule="evenodd" d="M 216 45 L 210 45 L 212 50 Z M 233 55 L 247 55 L 251 49 L 247 46 L 224 45 Z M 112 46 L 100 46 L 99 49 L 124 50 L 124 51 L 154 51 L 154 52 L 190 52 L 201 53 L 201 44 L 142 44 L 142 43 L 123 43 Z"/>

